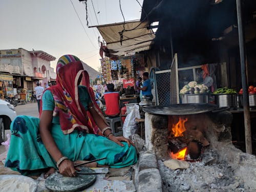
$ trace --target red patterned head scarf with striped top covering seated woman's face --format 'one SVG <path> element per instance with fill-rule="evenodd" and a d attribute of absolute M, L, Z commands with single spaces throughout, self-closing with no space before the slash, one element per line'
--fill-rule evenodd
<path fill-rule="evenodd" d="M 54 97 L 55 109 L 53 116 L 59 116 L 61 130 L 64 134 L 70 134 L 74 130 L 86 131 L 87 133 L 100 134 L 92 115 L 86 111 L 78 98 L 78 84 L 81 81 L 86 86 L 94 105 L 99 112 L 95 96 L 90 87 L 89 75 L 84 70 L 83 63 L 74 55 L 63 55 L 57 62 L 57 84 L 50 87 Z"/>

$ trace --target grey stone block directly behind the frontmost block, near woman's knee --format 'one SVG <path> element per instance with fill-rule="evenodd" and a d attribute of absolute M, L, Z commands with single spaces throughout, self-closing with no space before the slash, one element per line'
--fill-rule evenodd
<path fill-rule="evenodd" d="M 140 152 L 138 163 L 139 172 L 148 168 L 158 168 L 156 155 L 151 151 Z"/>

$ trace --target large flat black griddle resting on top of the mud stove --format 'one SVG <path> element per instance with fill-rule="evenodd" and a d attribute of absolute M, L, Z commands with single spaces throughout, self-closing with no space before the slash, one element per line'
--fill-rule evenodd
<path fill-rule="evenodd" d="M 143 111 L 156 115 L 192 115 L 217 110 L 218 106 L 208 103 L 172 104 L 169 106 L 148 106 Z"/>

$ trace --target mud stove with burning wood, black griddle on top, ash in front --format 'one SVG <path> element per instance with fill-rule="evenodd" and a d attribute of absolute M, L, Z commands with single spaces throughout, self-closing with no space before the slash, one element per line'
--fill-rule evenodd
<path fill-rule="evenodd" d="M 213 104 L 145 108 L 146 150 L 153 151 L 164 191 L 255 191 L 255 156 L 232 145 L 232 114 Z M 172 170 L 163 161 L 189 162 Z"/>

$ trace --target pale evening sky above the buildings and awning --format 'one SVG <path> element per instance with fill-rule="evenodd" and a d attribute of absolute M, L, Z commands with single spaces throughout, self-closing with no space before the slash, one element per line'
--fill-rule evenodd
<path fill-rule="evenodd" d="M 87 2 L 89 26 L 123 22 L 119 0 Z M 139 2 L 142 5 L 143 0 Z M 140 18 L 141 7 L 136 0 L 121 0 L 121 7 L 125 20 Z M 45 51 L 56 57 L 51 62 L 54 68 L 64 54 L 78 56 L 95 70 L 100 66 L 99 33 L 97 28 L 87 27 L 86 6 L 78 0 L 0 0 L 0 23 L 0 50 Z"/>

